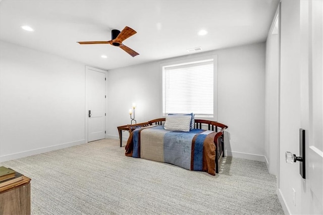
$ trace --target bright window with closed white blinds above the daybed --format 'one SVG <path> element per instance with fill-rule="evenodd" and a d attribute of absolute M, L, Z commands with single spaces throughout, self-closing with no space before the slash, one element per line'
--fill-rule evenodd
<path fill-rule="evenodd" d="M 194 113 L 216 120 L 216 56 L 162 65 L 163 116 Z"/>

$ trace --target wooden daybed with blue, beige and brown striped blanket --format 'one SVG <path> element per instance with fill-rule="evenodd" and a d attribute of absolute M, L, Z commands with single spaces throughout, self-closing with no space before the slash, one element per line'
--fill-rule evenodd
<path fill-rule="evenodd" d="M 228 126 L 195 119 L 189 131 L 167 130 L 166 118 L 128 125 L 126 156 L 173 164 L 187 170 L 219 173 Z"/>

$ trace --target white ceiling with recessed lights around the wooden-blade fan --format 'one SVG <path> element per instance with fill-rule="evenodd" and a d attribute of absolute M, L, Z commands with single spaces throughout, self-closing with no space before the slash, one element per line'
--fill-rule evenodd
<path fill-rule="evenodd" d="M 114 69 L 202 51 L 265 41 L 279 0 L 227 1 L 1 1 L 0 39 L 86 65 Z M 29 25 L 34 32 L 22 30 Z M 110 44 L 111 30 L 137 34 Z M 208 34 L 199 36 L 199 30 Z M 100 56 L 106 55 L 106 59 Z"/>

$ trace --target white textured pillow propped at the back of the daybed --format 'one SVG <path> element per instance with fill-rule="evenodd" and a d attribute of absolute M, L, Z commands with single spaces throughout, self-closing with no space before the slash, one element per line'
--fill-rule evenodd
<path fill-rule="evenodd" d="M 172 131 L 190 131 L 192 116 L 167 115 L 164 128 Z"/>

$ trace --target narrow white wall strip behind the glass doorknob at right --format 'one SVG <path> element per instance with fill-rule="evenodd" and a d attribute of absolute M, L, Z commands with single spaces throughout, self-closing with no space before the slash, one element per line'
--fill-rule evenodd
<path fill-rule="evenodd" d="M 280 195 L 291 214 L 301 213 L 299 164 L 287 164 L 285 152 L 299 153 L 300 125 L 300 4 L 282 1 L 281 10 L 281 101 L 280 101 Z M 293 107 L 293 108 L 291 108 Z M 293 177 L 292 177 L 293 176 Z M 296 202 L 293 202 L 293 190 Z M 285 211 L 286 212 L 286 211 Z"/>

